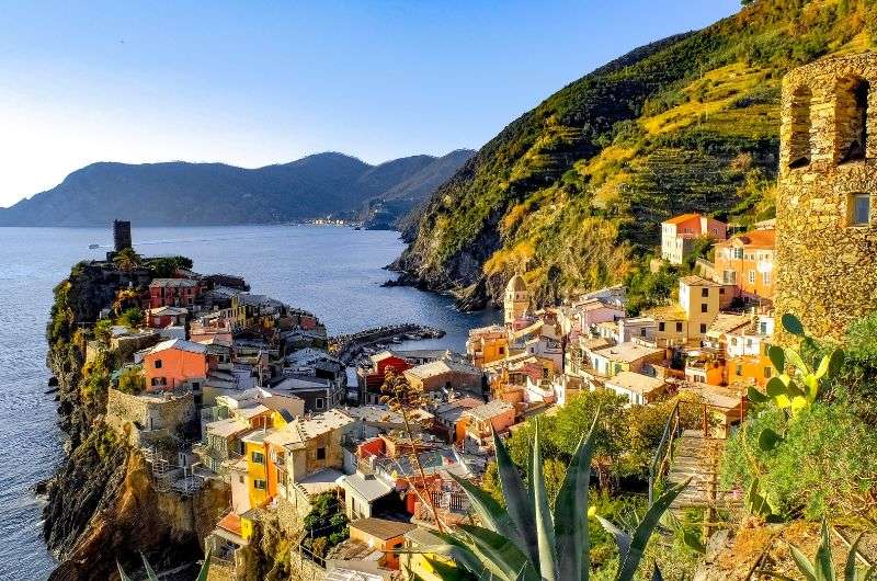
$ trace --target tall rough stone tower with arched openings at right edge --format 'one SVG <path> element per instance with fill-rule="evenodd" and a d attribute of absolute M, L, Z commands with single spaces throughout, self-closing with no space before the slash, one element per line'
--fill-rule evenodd
<path fill-rule="evenodd" d="M 776 312 L 820 339 L 877 310 L 877 54 L 783 81 Z"/>

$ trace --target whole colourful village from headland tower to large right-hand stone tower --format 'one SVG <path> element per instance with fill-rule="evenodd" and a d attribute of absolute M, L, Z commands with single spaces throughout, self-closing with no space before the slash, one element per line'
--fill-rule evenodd
<path fill-rule="evenodd" d="M 740 505 L 744 491 L 722 488 L 716 463 L 750 390 L 777 373 L 768 350 L 784 341 L 779 317 L 794 312 L 838 340 L 877 306 L 877 239 L 866 228 L 877 179 L 855 167 L 877 157 L 865 132 L 874 122 L 855 100 L 845 124 L 810 105 L 828 99 L 820 75 L 865 64 L 832 62 L 838 70 L 805 68 L 787 82 L 776 219 L 741 231 L 690 213 L 661 225 L 654 270 L 714 243 L 714 260 L 698 259 L 665 305 L 628 316 L 626 289 L 613 286 L 537 307 L 522 272 L 508 283 L 502 323 L 472 329 L 466 353 L 402 350 L 434 331 L 330 339 L 314 314 L 252 294 L 239 277 L 144 271 L 140 290 L 116 288 L 116 308 L 102 314 L 136 307 L 143 320 L 104 323 L 105 339 L 88 343 L 87 361 L 113 352 L 122 362 L 104 422 L 143 452 L 162 494 L 209 489 L 227 500 L 204 542 L 210 579 L 247 579 L 250 544 L 269 521 L 295 539 L 287 550 L 301 579 L 438 579 L 423 554 L 399 551 L 438 545 L 436 531 L 469 520 L 458 479 L 480 483 L 494 437 L 594 390 L 631 407 L 677 401 L 701 418 L 690 430 L 668 420 L 650 498 L 661 477 L 692 478 L 671 510 Z M 842 130 L 817 130 L 830 123 Z M 88 267 L 122 267 L 129 225 L 116 223 L 115 235 L 115 252 Z M 415 406 L 387 405 L 399 380 L 422 395 Z"/>

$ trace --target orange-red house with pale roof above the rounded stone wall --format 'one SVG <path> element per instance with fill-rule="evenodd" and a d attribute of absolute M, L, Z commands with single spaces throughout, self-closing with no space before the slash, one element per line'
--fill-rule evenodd
<path fill-rule="evenodd" d="M 190 384 L 198 388 L 207 377 L 207 348 L 192 341 L 162 341 L 144 355 L 147 390 L 173 389 Z"/>

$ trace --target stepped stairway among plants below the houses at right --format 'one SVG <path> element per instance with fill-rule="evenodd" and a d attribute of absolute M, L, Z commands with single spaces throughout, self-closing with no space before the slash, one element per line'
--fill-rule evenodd
<path fill-rule="evenodd" d="M 737 509 L 742 494 L 719 488 L 719 463 L 725 440 L 705 436 L 699 430 L 685 430 L 676 443 L 667 480 L 670 483 L 691 482 L 670 505 L 670 510 L 714 508 Z"/>

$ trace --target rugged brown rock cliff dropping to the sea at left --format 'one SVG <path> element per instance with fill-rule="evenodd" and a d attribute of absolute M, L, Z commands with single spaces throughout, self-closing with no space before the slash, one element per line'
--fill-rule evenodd
<path fill-rule="evenodd" d="M 141 449 L 104 423 L 112 355 L 87 361 L 86 329 L 118 288 L 149 277 L 146 269 L 80 263 L 55 288 L 47 363 L 58 380 L 67 456 L 45 487 L 44 536 L 59 559 L 52 580 L 114 579 L 116 561 L 137 571 L 140 552 L 157 570 L 191 566 L 228 505 L 227 490 L 205 487 L 187 498 L 157 491 Z"/>

